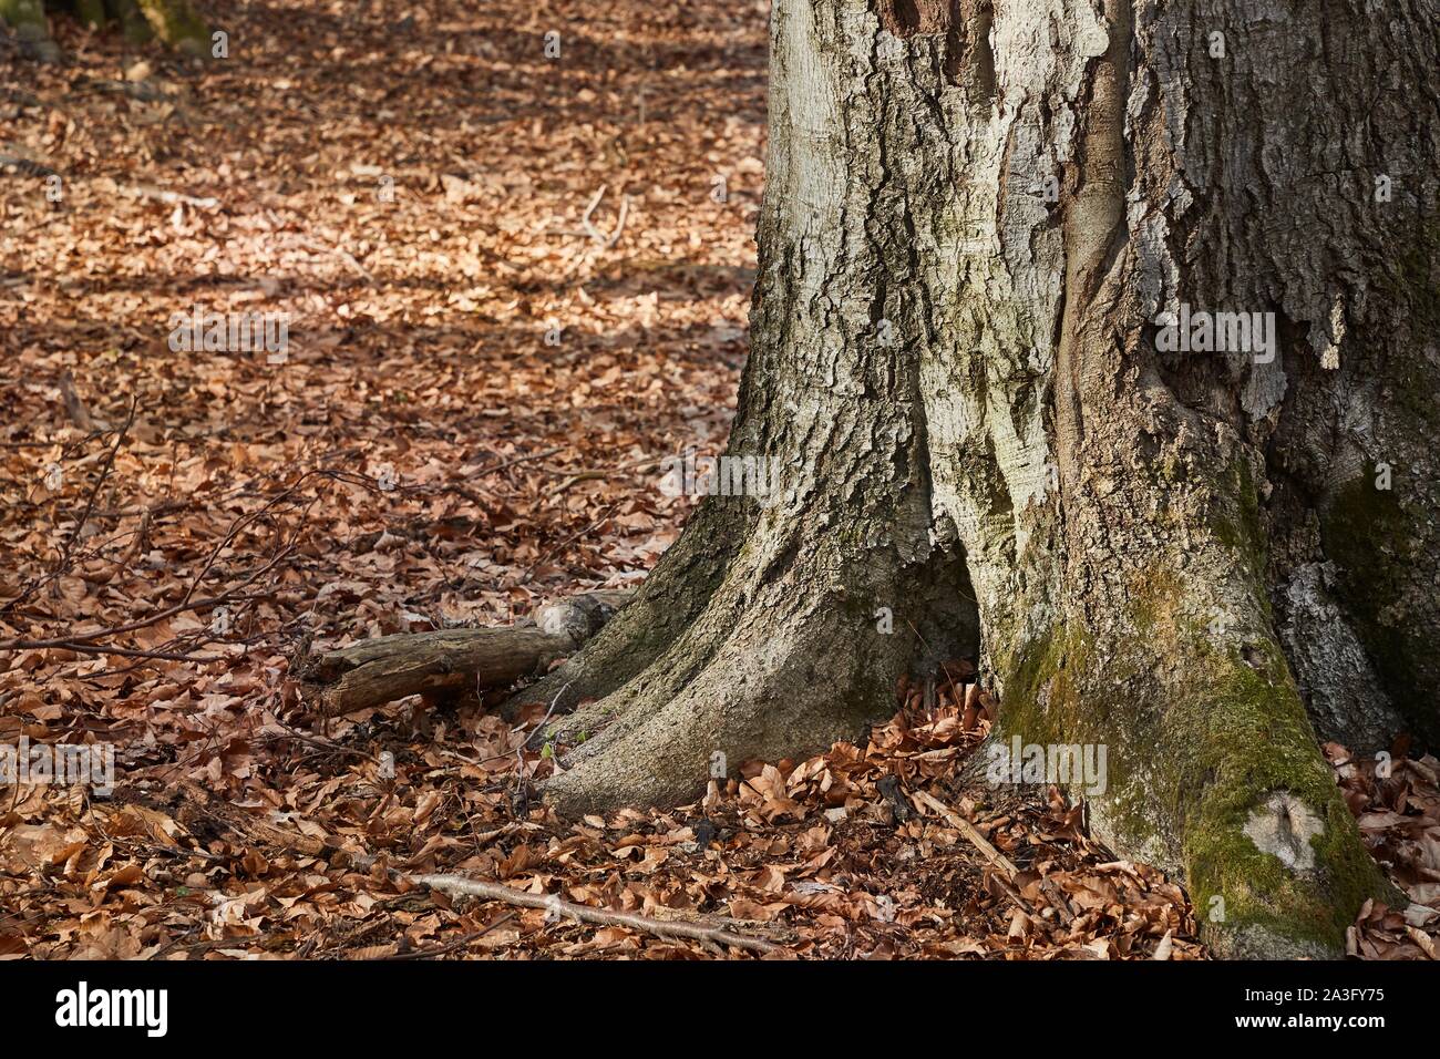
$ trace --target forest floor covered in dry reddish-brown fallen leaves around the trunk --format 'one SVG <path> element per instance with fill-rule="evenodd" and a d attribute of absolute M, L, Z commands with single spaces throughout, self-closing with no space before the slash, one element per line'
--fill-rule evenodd
<path fill-rule="evenodd" d="M 658 461 L 719 451 L 746 356 L 766 4 L 239 7 L 204 65 L 0 36 L 0 743 L 117 755 L 109 797 L 0 788 L 0 957 L 723 952 L 395 869 L 799 957 L 1204 958 L 1184 890 L 1080 808 L 958 781 L 985 722 L 953 687 L 582 821 L 524 795 L 534 716 L 320 723 L 302 645 L 511 622 L 675 539 Z M 174 352 L 193 307 L 285 313 L 289 346 Z M 1436 759 L 1328 749 L 1440 908 Z M 1434 958 L 1427 912 L 1368 906 L 1352 951 Z"/>

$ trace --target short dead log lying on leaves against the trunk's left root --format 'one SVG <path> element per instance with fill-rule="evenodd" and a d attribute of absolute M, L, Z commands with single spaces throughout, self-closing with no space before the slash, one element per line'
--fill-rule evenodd
<path fill-rule="evenodd" d="M 505 687 L 573 654 L 634 595 L 586 592 L 546 604 L 533 622 L 505 628 L 449 628 L 363 640 L 310 656 L 297 664 L 297 673 L 325 716 L 383 706 L 410 694 Z"/>

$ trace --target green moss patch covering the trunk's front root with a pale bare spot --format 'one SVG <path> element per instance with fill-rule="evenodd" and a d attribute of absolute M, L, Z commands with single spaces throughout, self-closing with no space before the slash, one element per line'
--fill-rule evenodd
<path fill-rule="evenodd" d="M 1367 898 L 1390 898 L 1320 756 L 1269 630 L 1215 635 L 1169 571 L 1132 585 L 1119 633 L 1058 624 L 1017 651 L 999 729 L 1103 743 L 1096 830 L 1178 869 L 1218 955 L 1338 955 Z"/>

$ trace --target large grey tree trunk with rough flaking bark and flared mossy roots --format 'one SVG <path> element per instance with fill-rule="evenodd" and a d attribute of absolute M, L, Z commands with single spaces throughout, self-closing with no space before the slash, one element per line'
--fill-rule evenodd
<path fill-rule="evenodd" d="M 854 736 L 978 618 L 1001 738 L 1106 746 L 1094 831 L 1218 954 L 1338 952 L 1388 890 L 1316 730 L 1440 732 L 1436 14 L 775 0 L 729 452 L 779 488 L 528 693 L 600 697 L 547 797 Z"/>

